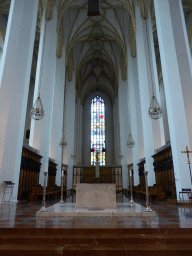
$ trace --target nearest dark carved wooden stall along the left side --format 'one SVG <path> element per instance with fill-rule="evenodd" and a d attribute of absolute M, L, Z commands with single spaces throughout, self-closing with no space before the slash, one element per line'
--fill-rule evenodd
<path fill-rule="evenodd" d="M 38 186 L 41 158 L 37 150 L 24 145 L 22 150 L 18 200 L 27 199 L 32 187 Z"/>

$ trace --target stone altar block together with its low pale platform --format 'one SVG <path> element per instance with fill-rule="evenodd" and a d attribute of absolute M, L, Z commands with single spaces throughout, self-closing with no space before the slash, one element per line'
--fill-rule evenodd
<path fill-rule="evenodd" d="M 146 208 L 140 204 L 130 204 L 129 198 L 125 196 L 123 203 L 116 203 L 116 196 L 115 184 L 77 184 L 76 203 L 56 203 L 44 212 L 38 211 L 36 217 L 156 216 L 155 212 L 145 212 Z"/>

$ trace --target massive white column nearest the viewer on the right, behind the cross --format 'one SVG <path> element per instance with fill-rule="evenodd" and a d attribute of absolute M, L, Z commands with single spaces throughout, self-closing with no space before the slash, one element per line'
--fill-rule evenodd
<path fill-rule="evenodd" d="M 189 145 L 190 129 L 186 114 L 191 113 L 192 78 L 185 29 L 182 2 L 172 0 L 154 1 L 157 33 L 159 40 L 162 73 L 167 103 L 167 114 L 176 179 L 177 196 L 182 188 L 190 188 L 190 175 L 185 154 Z M 174 17 L 174 15 L 176 15 Z M 188 97 L 187 95 L 188 94 Z M 187 111 L 188 106 L 188 111 Z M 191 115 L 189 117 L 191 123 Z M 190 124 L 191 125 L 191 124 Z M 188 129 L 187 129 L 188 128 Z"/>

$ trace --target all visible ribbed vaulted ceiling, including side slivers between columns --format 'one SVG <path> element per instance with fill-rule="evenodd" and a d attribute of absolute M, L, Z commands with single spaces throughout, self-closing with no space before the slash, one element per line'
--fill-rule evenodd
<path fill-rule="evenodd" d="M 134 0 L 100 0 L 100 15 L 87 16 L 88 0 L 39 0 L 33 74 L 35 75 L 44 3 L 47 20 L 51 19 L 53 6 L 56 5 L 58 8 L 57 57 L 60 58 L 65 54 L 69 81 L 75 72 L 75 83 L 79 94 L 85 94 L 92 87 L 102 88 L 109 94 L 116 95 L 119 77 L 121 76 L 123 80 L 127 78 L 128 44 L 131 47 L 131 55 L 136 56 L 134 2 Z M 144 4 L 151 1 L 137 0 L 137 2 L 144 11 Z M 0 0 L 0 15 L 6 19 L 8 19 L 9 7 L 10 0 Z M 183 8 L 189 40 L 192 41 L 192 2 L 183 0 Z M 160 70 L 153 1 L 150 9 Z M 5 29 L 1 26 L 0 35 L 4 39 Z"/>

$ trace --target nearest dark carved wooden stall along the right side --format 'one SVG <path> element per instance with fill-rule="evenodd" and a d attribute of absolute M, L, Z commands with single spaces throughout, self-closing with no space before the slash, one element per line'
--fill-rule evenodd
<path fill-rule="evenodd" d="M 166 198 L 176 199 L 175 176 L 170 144 L 160 148 L 154 158 L 154 171 L 157 186 L 162 187 Z"/>

